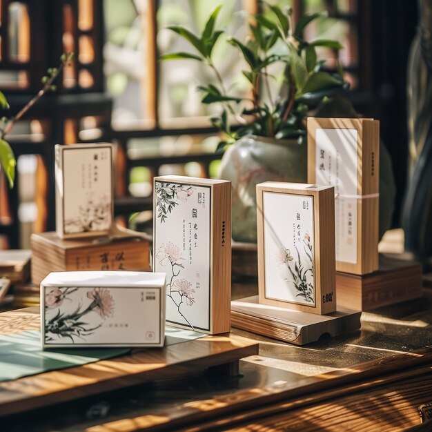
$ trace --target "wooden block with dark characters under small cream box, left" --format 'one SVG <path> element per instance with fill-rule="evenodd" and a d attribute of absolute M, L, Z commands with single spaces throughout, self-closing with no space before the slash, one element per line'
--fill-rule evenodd
<path fill-rule="evenodd" d="M 97 238 L 60 239 L 55 232 L 32 234 L 32 283 L 39 285 L 52 271 L 150 271 L 150 241 L 130 230 L 115 228 Z"/>

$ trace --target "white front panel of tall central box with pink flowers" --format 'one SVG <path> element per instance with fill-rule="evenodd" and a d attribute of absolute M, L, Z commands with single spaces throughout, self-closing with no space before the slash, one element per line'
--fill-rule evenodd
<path fill-rule="evenodd" d="M 166 319 L 210 331 L 209 186 L 155 181 L 155 271 L 166 273 Z"/>

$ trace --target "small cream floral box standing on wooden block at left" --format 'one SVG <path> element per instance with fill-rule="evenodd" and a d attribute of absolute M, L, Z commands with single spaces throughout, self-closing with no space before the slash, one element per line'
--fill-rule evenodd
<path fill-rule="evenodd" d="M 55 146 L 61 238 L 104 235 L 112 224 L 112 144 Z"/>

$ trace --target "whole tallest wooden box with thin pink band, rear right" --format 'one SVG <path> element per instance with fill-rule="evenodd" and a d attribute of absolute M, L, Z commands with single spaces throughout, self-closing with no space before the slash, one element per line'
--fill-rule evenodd
<path fill-rule="evenodd" d="M 336 269 L 377 270 L 379 122 L 308 119 L 308 181 L 335 187 Z"/>

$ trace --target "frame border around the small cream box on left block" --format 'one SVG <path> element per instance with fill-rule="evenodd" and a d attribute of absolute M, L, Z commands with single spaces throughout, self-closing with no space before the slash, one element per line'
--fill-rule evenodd
<path fill-rule="evenodd" d="M 110 226 L 113 223 L 114 219 L 114 181 L 113 181 L 113 168 L 112 161 L 114 158 L 114 145 L 109 143 L 97 143 L 97 144 L 70 144 L 63 146 L 61 144 L 55 145 L 55 215 L 56 215 L 56 233 L 61 239 L 73 239 L 79 237 L 97 237 L 100 235 L 107 235 L 110 226 L 104 230 L 82 230 L 77 233 L 66 233 L 65 231 L 65 199 L 68 199 L 64 196 L 64 175 L 63 175 L 63 166 L 64 166 L 64 157 L 66 152 L 79 151 L 79 150 L 103 150 L 109 149 L 109 162 L 108 167 L 110 169 L 110 193 L 109 193 L 109 211 L 108 211 L 108 222 Z"/>

